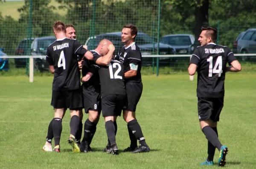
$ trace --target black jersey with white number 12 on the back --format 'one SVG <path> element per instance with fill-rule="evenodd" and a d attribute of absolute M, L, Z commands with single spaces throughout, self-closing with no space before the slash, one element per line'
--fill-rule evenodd
<path fill-rule="evenodd" d="M 101 85 L 101 97 L 106 95 L 126 95 L 125 91 L 125 70 L 118 60 L 111 60 L 107 66 L 98 67 L 99 80 Z"/>

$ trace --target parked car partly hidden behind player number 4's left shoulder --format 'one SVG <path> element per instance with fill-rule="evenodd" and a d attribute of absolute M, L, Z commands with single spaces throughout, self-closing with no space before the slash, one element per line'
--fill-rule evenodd
<path fill-rule="evenodd" d="M 35 69 L 40 72 L 49 70 L 49 66 L 46 63 L 46 52 L 50 44 L 56 40 L 56 37 L 37 37 L 31 44 L 31 55 L 42 56 L 35 59 Z"/>

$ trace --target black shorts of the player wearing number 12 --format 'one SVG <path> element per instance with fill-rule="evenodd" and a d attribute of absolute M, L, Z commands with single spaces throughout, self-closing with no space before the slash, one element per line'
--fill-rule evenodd
<path fill-rule="evenodd" d="M 102 116 L 120 116 L 125 101 L 123 95 L 106 95 L 102 98 Z"/>

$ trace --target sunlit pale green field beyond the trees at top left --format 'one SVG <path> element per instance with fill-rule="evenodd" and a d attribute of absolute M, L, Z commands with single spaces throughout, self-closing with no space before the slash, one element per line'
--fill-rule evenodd
<path fill-rule="evenodd" d="M 6 1 L 5 3 L 0 2 L 0 12 L 3 16 L 11 16 L 15 20 L 18 20 L 20 18 L 20 13 L 17 11 L 17 9 L 21 8 L 23 5 L 24 1 Z M 55 13 L 60 15 L 67 14 L 67 9 L 58 9 L 60 4 L 55 2 L 55 0 L 52 0 L 52 2 L 49 3 L 49 6 L 55 6 Z"/>

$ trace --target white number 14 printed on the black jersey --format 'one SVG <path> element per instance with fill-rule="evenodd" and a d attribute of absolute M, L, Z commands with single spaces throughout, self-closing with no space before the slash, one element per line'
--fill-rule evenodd
<path fill-rule="evenodd" d="M 222 56 L 217 57 L 217 60 L 216 60 L 216 63 L 214 65 L 213 69 L 212 69 L 212 60 L 213 60 L 212 56 L 210 56 L 207 59 L 207 62 L 209 62 L 209 74 L 208 74 L 208 76 L 212 77 L 212 73 L 218 73 L 218 77 L 221 77 L 221 73 L 223 72 L 222 71 Z"/>

